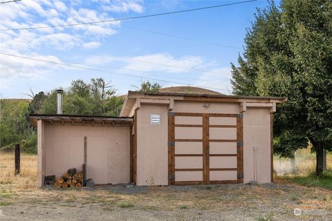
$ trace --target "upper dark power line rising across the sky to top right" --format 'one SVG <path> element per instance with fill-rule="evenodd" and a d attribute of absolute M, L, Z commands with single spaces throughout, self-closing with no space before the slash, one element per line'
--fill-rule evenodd
<path fill-rule="evenodd" d="M 216 6 L 208 6 L 208 7 L 202 7 L 202 8 L 192 8 L 192 9 L 187 9 L 187 10 L 178 10 L 174 12 L 163 12 L 163 13 L 158 13 L 158 14 L 152 14 L 152 15 L 142 15 L 142 16 L 136 16 L 136 17 L 124 17 L 120 19 L 109 19 L 109 20 L 102 20 L 102 21 L 91 21 L 91 22 L 82 22 L 82 23 L 68 23 L 65 25 L 58 25 L 58 26 L 39 26 L 39 27 L 29 27 L 29 28 L 9 28 L 9 29 L 0 29 L 0 31 L 9 31 L 9 30 L 31 30 L 31 29 L 42 29 L 42 28 L 60 28 L 60 27 L 68 27 L 68 26 L 82 26 L 82 25 L 91 25 L 95 23 L 107 23 L 107 22 L 113 22 L 113 21 L 125 21 L 125 20 L 131 20 L 131 19 L 144 19 L 148 17 L 157 17 L 157 16 L 162 16 L 162 15 L 173 15 L 173 14 L 178 14 L 178 13 L 183 13 L 183 12 L 193 12 L 197 10 L 206 10 L 210 8 L 220 8 L 223 6 L 232 6 L 232 5 L 238 5 L 241 3 L 248 3 L 251 1 L 257 1 L 257 0 L 248 0 L 248 1 L 239 1 L 239 2 L 234 2 L 234 3 L 226 3 L 222 5 L 216 5 Z"/>

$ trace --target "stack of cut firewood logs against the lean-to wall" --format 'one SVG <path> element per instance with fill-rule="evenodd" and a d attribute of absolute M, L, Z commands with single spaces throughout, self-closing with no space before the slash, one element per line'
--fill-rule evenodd
<path fill-rule="evenodd" d="M 57 182 L 55 182 L 55 186 L 58 188 L 80 188 L 83 183 L 83 172 L 77 173 L 75 168 L 68 169 L 62 177 L 57 178 Z"/>

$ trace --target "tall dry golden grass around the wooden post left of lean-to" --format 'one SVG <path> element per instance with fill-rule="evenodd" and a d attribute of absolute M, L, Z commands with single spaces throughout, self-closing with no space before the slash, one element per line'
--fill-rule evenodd
<path fill-rule="evenodd" d="M 0 152 L 0 189 L 36 189 L 37 155 L 21 154 L 21 174 L 15 175 L 15 154 Z"/>

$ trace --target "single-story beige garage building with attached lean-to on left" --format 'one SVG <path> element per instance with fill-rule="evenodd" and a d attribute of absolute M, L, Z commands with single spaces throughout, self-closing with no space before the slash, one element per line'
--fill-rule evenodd
<path fill-rule="evenodd" d="M 95 184 L 273 182 L 273 112 L 285 101 L 129 91 L 120 117 L 32 114 L 38 185 L 84 163 Z"/>

